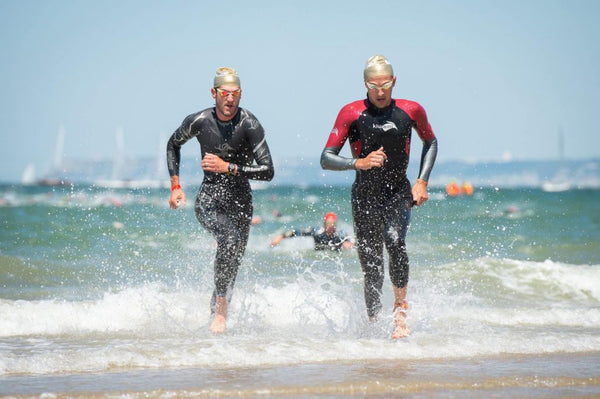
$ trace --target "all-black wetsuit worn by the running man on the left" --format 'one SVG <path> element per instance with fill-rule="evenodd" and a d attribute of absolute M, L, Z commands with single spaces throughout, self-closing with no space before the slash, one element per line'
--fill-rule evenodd
<path fill-rule="evenodd" d="M 211 153 L 238 165 L 236 175 L 205 171 L 196 197 L 196 217 L 217 240 L 211 301 L 214 312 L 216 295 L 231 299 L 248 243 L 253 210 L 248 179 L 271 180 L 273 161 L 263 127 L 254 115 L 239 108 L 232 120 L 224 122 L 213 107 L 186 117 L 169 139 L 167 166 L 171 176 L 179 175 L 180 148 L 193 137 L 200 143 L 202 158 Z"/>

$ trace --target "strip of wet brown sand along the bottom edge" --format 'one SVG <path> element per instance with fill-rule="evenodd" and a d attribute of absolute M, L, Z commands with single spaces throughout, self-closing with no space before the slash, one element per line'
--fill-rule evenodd
<path fill-rule="evenodd" d="M 0 378 L 14 398 L 600 398 L 600 353 Z"/>

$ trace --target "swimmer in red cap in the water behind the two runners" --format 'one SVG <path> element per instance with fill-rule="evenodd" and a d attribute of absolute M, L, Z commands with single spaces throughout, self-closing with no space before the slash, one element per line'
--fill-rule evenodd
<path fill-rule="evenodd" d="M 323 218 L 323 227 L 315 229 L 309 227 L 304 230 L 288 230 L 279 234 L 271 241 L 271 246 L 274 247 L 284 238 L 291 237 L 312 237 L 315 241 L 315 250 L 323 251 L 340 251 L 342 249 L 350 249 L 354 247 L 354 243 L 343 232 L 336 231 L 337 215 L 334 212 L 327 212 Z"/>

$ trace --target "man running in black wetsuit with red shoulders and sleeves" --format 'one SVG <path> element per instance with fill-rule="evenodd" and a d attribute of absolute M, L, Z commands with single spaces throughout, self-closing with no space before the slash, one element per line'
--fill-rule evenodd
<path fill-rule="evenodd" d="M 342 108 L 321 154 L 321 166 L 356 170 L 352 213 L 365 278 L 367 313 L 375 319 L 381 311 L 385 244 L 395 295 L 392 338 L 399 338 L 410 333 L 405 321 L 408 307 L 405 238 L 411 207 L 428 199 L 427 181 L 437 154 L 437 139 L 419 104 L 392 98 L 396 77 L 385 57 L 369 58 L 364 80 L 367 98 Z M 422 140 L 423 151 L 419 176 L 411 189 L 406 168 L 412 129 Z M 346 140 L 350 141 L 352 158 L 339 155 Z"/>

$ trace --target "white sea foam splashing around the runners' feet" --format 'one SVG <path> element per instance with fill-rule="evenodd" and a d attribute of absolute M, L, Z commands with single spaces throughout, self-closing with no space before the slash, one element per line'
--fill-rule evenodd
<path fill-rule="evenodd" d="M 417 270 L 413 333 L 401 342 L 388 339 L 388 284 L 371 324 L 360 278 L 310 266 L 272 284 L 242 279 L 224 336 L 208 332 L 208 288 L 154 283 L 86 301 L 2 300 L 0 374 L 600 351 L 597 270 L 487 258 L 442 265 L 437 279 Z M 480 288 L 490 283 L 497 291 Z"/>

